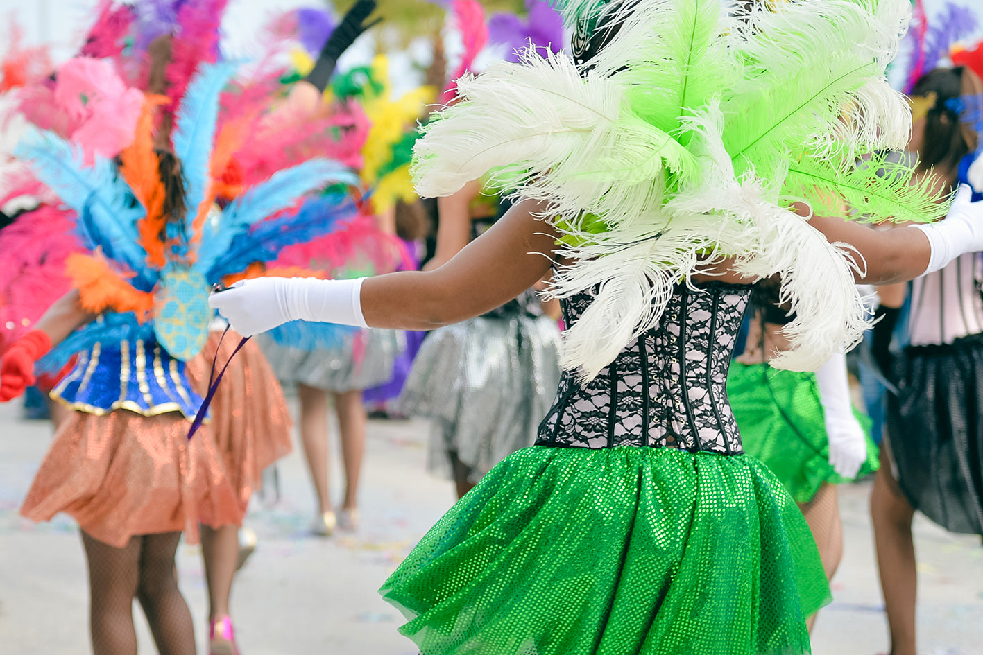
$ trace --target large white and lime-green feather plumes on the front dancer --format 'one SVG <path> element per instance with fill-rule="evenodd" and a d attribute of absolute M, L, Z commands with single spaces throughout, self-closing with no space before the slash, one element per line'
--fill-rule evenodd
<path fill-rule="evenodd" d="M 578 31 L 573 57 L 527 52 L 465 76 L 462 101 L 417 142 L 413 172 L 425 196 L 491 171 L 493 186 L 544 202 L 572 262 L 553 293 L 594 297 L 565 333 L 563 366 L 593 378 L 658 325 L 673 285 L 723 257 L 748 277 L 781 274 L 796 319 L 776 365 L 815 369 L 854 345 L 870 325 L 853 284 L 863 262 L 790 205 L 870 219 L 945 212 L 878 154 L 910 130 L 884 74 L 907 1 L 731 14 L 719 0 L 591 0 L 562 13 Z"/>

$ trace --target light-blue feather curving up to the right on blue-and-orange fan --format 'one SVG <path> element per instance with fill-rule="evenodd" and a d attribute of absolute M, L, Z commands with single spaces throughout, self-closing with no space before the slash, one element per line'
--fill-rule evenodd
<path fill-rule="evenodd" d="M 251 226 L 295 205 L 301 197 L 332 184 L 357 185 L 358 176 L 336 162 L 312 159 L 274 173 L 225 208 L 216 225 L 206 225 L 195 266 L 208 271 Z M 225 271 L 234 273 L 238 271 Z"/>

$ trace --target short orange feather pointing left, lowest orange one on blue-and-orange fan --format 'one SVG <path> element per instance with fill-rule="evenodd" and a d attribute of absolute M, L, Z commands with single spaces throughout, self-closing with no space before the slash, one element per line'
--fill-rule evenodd
<path fill-rule="evenodd" d="M 153 310 L 153 294 L 138 291 L 126 281 L 126 275 L 114 271 L 109 261 L 96 250 L 92 254 L 73 252 L 65 261 L 65 272 L 79 290 L 82 308 L 98 314 L 107 309 L 133 311 L 143 323 Z"/>

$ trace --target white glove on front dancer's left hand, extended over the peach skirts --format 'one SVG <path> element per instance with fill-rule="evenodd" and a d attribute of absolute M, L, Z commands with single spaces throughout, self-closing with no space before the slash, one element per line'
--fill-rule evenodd
<path fill-rule="evenodd" d="M 241 280 L 208 297 L 232 329 L 244 337 L 272 330 L 288 321 L 366 325 L 362 316 L 362 281 L 317 278 Z"/>

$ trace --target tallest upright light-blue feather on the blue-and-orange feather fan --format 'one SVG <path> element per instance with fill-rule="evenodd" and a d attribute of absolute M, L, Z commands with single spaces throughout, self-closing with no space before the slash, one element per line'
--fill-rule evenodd
<path fill-rule="evenodd" d="M 211 148 L 218 120 L 218 98 L 239 68 L 235 61 L 205 64 L 189 84 L 174 126 L 174 154 L 181 160 L 185 178 L 185 203 L 188 214 L 195 216 L 208 189 Z M 192 221 L 188 221 L 188 230 Z M 191 243 L 192 235 L 185 235 Z"/>

